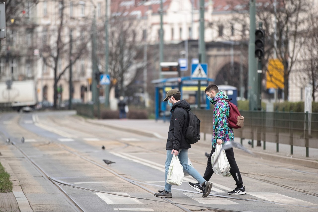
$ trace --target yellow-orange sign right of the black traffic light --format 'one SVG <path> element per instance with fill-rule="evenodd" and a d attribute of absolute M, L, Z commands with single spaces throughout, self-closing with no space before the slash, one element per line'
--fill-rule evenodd
<path fill-rule="evenodd" d="M 266 88 L 284 88 L 284 65 L 279 59 L 269 59 Z"/>

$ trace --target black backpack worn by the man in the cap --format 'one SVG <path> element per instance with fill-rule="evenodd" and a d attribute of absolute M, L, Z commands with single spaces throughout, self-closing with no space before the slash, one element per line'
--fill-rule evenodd
<path fill-rule="evenodd" d="M 185 108 L 183 109 L 186 110 Z M 201 120 L 198 119 L 198 117 L 190 110 L 186 110 L 188 112 L 188 124 L 183 127 L 183 134 L 186 142 L 188 142 L 189 144 L 195 144 L 198 142 L 198 140 L 200 140 Z"/>

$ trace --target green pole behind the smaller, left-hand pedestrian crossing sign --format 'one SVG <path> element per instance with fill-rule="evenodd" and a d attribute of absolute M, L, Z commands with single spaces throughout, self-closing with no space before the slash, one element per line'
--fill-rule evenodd
<path fill-rule="evenodd" d="M 108 56 L 109 56 L 109 43 L 108 43 L 108 0 L 105 0 L 105 74 L 108 74 Z M 109 107 L 109 85 L 105 85 L 105 107 Z"/>

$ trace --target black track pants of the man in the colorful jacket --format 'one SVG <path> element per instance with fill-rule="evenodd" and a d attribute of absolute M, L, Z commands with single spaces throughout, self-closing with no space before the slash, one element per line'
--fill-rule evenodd
<path fill-rule="evenodd" d="M 212 169 L 212 164 L 211 164 L 211 156 L 212 156 L 213 152 L 215 152 L 215 148 L 212 148 L 212 150 L 211 150 L 210 156 L 208 158 L 208 164 L 207 164 L 205 172 L 204 172 L 203 178 L 206 181 L 209 181 L 210 178 L 212 177 L 212 174 L 214 173 L 213 169 Z M 225 150 L 225 154 L 226 154 L 226 157 L 227 157 L 229 164 L 231 166 L 230 173 L 236 182 L 235 185 L 240 187 L 240 188 L 243 187 L 243 180 L 241 177 L 241 173 L 239 172 L 239 167 L 236 164 L 236 161 L 234 158 L 233 148 Z"/>

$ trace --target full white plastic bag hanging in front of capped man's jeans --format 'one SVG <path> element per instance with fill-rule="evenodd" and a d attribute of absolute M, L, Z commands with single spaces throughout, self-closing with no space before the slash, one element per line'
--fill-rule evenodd
<path fill-rule="evenodd" d="M 167 183 L 170 185 L 180 186 L 184 178 L 182 166 L 178 156 L 172 156 L 168 170 Z"/>

